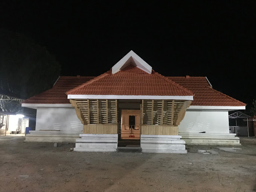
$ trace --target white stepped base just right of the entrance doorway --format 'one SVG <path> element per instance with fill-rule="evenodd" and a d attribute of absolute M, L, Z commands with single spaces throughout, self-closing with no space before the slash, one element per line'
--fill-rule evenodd
<path fill-rule="evenodd" d="M 181 136 L 140 135 L 142 152 L 153 153 L 187 153 L 185 141 Z"/>

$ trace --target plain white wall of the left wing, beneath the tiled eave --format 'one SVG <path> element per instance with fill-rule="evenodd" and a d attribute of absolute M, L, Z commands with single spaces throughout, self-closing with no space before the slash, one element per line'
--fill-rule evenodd
<path fill-rule="evenodd" d="M 37 108 L 35 130 L 82 131 L 83 125 L 73 107 Z"/>

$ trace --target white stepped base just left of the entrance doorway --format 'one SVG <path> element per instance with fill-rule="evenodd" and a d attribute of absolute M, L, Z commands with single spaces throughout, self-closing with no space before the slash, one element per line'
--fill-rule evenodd
<path fill-rule="evenodd" d="M 80 134 L 74 151 L 113 152 L 117 149 L 118 134 Z"/>

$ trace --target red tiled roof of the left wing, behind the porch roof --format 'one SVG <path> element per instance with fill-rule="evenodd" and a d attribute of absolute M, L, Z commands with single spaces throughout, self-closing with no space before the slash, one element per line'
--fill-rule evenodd
<path fill-rule="evenodd" d="M 94 77 L 59 77 L 53 88 L 24 100 L 24 104 L 70 104 L 66 91 L 87 82 Z"/>

